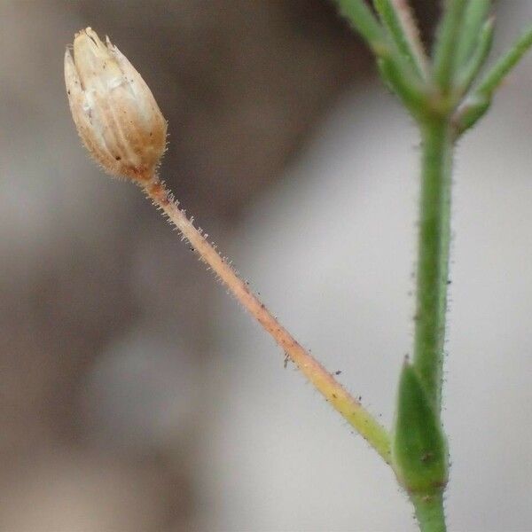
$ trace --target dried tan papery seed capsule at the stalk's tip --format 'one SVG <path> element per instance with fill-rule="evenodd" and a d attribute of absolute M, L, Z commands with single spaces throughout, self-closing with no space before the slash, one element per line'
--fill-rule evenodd
<path fill-rule="evenodd" d="M 113 176 L 149 180 L 165 151 L 167 122 L 141 75 L 90 27 L 65 54 L 70 110 L 84 145 Z"/>

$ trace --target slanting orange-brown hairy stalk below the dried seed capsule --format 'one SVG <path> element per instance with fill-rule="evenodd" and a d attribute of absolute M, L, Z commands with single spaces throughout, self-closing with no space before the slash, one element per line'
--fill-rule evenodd
<path fill-rule="evenodd" d="M 254 317 L 262 327 L 270 333 L 278 345 L 284 349 L 287 356 L 296 364 L 309 381 L 324 395 L 326 401 L 356 428 L 367 442 L 372 445 L 387 464 L 390 464 L 390 438 L 386 429 L 364 409 L 348 392 L 334 379 L 331 373 L 311 356 L 290 332 L 279 324 L 270 310 L 251 292 L 247 283 L 239 278 L 231 264 L 227 262 L 207 240 L 207 236 L 196 229 L 184 211 L 181 210 L 168 192 L 168 189 L 155 176 L 142 183 L 145 194 L 159 207 L 188 240 L 193 250 L 200 255 L 203 262 L 215 271 L 225 286 L 237 298 L 242 306 Z"/>

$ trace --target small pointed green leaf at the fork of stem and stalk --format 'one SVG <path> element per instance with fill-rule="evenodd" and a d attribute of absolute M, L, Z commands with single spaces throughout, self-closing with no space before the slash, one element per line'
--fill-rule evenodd
<path fill-rule="evenodd" d="M 399 380 L 392 458 L 397 477 L 410 493 L 433 495 L 445 487 L 448 453 L 442 424 L 408 363 Z"/>

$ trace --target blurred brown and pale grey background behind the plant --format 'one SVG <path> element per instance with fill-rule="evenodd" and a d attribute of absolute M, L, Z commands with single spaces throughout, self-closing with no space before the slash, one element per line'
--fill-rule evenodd
<path fill-rule="evenodd" d="M 428 41 L 438 2 L 415 4 Z M 532 3 L 497 16 L 500 51 Z M 330 1 L 0 0 L 0 529 L 415 530 L 365 442 L 89 160 L 63 83 L 87 26 L 168 118 L 177 198 L 388 426 L 411 349 L 418 137 Z M 451 530 L 532 530 L 531 94 L 528 58 L 458 150 Z"/>

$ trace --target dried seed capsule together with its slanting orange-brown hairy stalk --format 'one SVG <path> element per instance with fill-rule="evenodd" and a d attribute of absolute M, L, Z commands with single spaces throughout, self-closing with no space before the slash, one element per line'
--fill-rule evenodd
<path fill-rule="evenodd" d="M 155 168 L 165 149 L 167 123 L 129 60 L 109 39 L 102 43 L 88 27 L 75 35 L 74 59 L 66 51 L 65 81 L 74 123 L 90 154 L 107 172 L 129 178 L 144 190 L 325 400 L 390 464 L 386 429 L 279 324 L 157 177 Z"/>

